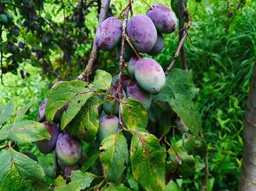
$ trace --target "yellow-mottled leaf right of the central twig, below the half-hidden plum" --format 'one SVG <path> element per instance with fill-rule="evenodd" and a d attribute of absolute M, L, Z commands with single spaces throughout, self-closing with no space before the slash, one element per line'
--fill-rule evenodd
<path fill-rule="evenodd" d="M 124 99 L 121 102 L 122 119 L 127 128 L 146 128 L 147 112 L 143 104 L 138 100 L 130 98 Z"/>

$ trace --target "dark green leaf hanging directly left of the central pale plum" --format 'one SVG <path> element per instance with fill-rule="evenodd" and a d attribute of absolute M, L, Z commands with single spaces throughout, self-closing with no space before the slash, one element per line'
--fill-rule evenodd
<path fill-rule="evenodd" d="M 69 123 L 71 134 L 83 141 L 93 141 L 99 128 L 98 106 L 103 101 L 96 96 L 90 97 L 86 104 Z"/>

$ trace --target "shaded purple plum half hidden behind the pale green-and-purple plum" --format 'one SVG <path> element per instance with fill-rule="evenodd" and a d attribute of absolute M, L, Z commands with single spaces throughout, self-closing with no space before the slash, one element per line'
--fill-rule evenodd
<path fill-rule="evenodd" d="M 127 97 L 139 100 L 145 106 L 146 110 L 150 108 L 152 96 L 139 86 L 137 82 L 132 82 L 126 90 Z"/>

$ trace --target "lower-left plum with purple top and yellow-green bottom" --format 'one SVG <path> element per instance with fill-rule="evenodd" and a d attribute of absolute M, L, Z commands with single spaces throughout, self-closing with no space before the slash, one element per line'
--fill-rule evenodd
<path fill-rule="evenodd" d="M 82 143 L 70 133 L 61 133 L 56 142 L 56 154 L 65 166 L 73 166 L 82 157 Z"/>

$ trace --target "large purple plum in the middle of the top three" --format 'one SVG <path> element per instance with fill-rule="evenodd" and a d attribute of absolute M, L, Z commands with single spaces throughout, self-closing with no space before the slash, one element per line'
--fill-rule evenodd
<path fill-rule="evenodd" d="M 131 17 L 127 23 L 127 34 L 135 49 L 141 53 L 149 52 L 156 44 L 156 27 L 146 15 Z"/>

